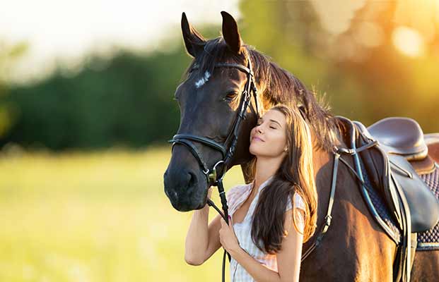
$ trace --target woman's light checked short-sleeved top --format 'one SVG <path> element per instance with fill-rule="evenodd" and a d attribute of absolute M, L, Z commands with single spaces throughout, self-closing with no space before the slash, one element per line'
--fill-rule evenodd
<path fill-rule="evenodd" d="M 250 204 L 250 207 L 248 209 L 247 214 L 245 215 L 245 218 L 242 220 L 242 222 L 239 223 L 233 223 L 233 230 L 235 231 L 236 237 L 238 238 L 238 243 L 240 247 L 245 250 L 251 257 L 259 261 L 261 264 L 264 264 L 267 268 L 276 271 L 277 272 L 277 259 L 276 254 L 270 255 L 266 252 L 262 252 L 258 249 L 256 245 L 254 245 L 252 240 L 252 221 L 253 221 L 253 214 L 254 209 L 257 206 L 257 202 L 259 199 L 259 194 L 273 179 L 274 176 L 271 176 L 269 179 L 265 180 L 264 183 L 262 183 L 259 186 L 259 190 L 257 192 L 257 195 L 252 200 L 252 203 Z M 242 205 L 242 203 L 247 200 L 250 193 L 252 192 L 252 185 L 254 181 L 249 184 L 245 185 L 237 185 L 233 186 L 233 188 L 230 188 L 228 192 L 226 193 L 226 198 L 228 202 L 229 207 L 229 215 L 232 218 L 233 222 L 233 214 L 235 211 Z M 303 202 L 302 197 L 295 192 L 294 194 L 294 207 L 303 209 L 305 211 L 305 203 Z M 291 196 L 288 196 L 288 204 L 286 206 L 285 212 L 289 209 L 292 209 L 291 205 Z M 301 228 L 303 231 L 304 226 L 304 219 L 303 217 L 295 218 L 295 221 L 298 228 Z M 260 245 L 263 246 L 262 241 L 260 241 Z M 248 272 L 244 269 L 244 267 L 240 266 L 238 262 L 231 257 L 230 259 L 230 281 L 231 282 L 237 282 L 237 281 L 254 281 L 252 276 L 248 274 Z"/>

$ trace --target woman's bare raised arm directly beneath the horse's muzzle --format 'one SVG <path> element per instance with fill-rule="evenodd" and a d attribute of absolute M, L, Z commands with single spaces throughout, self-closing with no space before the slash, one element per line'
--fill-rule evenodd
<path fill-rule="evenodd" d="M 211 196 L 209 188 L 209 199 Z M 218 214 L 208 226 L 209 205 L 194 211 L 185 242 L 185 261 L 191 265 L 206 262 L 221 247 L 218 231 L 221 228 L 221 216 Z"/>

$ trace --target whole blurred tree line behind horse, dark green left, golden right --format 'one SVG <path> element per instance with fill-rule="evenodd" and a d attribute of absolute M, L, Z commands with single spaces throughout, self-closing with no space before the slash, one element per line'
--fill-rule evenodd
<path fill-rule="evenodd" d="M 424 132 L 439 132 L 439 13 L 426 7 L 411 13 L 410 1 L 245 0 L 238 25 L 245 43 L 318 96 L 326 93 L 334 115 L 365 125 L 407 116 Z M 426 25 L 422 15 L 434 24 Z M 211 39 L 221 27 L 197 29 Z M 181 35 L 165 45 L 175 48 L 119 51 L 110 59 L 90 55 L 78 72 L 59 68 L 45 81 L 11 88 L 1 105 L 8 103 L 8 112 L 15 114 L 0 110 L 0 145 L 163 144 L 177 130 L 172 94 L 191 60 Z M 6 65 L 0 59 L 1 66 Z"/>

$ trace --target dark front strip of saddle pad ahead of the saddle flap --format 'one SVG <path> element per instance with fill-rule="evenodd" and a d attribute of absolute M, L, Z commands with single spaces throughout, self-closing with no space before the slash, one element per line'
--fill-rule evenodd
<path fill-rule="evenodd" d="M 368 205 L 368 208 L 375 209 L 378 216 L 380 216 L 381 220 L 387 225 L 387 228 L 390 229 L 390 231 L 393 233 L 393 234 L 387 233 L 387 235 L 390 235 L 390 238 L 392 238 L 392 240 L 394 240 L 394 242 L 397 245 L 399 245 L 399 242 L 401 242 L 401 231 L 397 227 L 397 223 L 395 223 L 394 219 L 392 219 L 392 216 L 390 216 L 390 212 L 387 209 L 385 202 L 382 200 L 381 195 L 377 192 L 376 189 L 373 188 L 373 185 L 368 178 L 368 173 L 365 171 L 365 168 L 362 163 L 361 163 L 361 172 L 363 173 L 363 179 L 366 184 L 365 190 L 368 193 L 370 197 L 370 201 L 372 202 L 373 205 L 373 207 L 370 207 Z M 373 213 L 372 210 L 370 212 Z M 381 225 L 380 222 L 378 222 L 378 224 Z"/>

